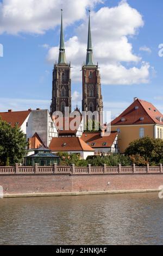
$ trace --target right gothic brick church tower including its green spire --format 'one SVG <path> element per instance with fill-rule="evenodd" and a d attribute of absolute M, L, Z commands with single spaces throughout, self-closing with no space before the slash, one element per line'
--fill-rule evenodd
<path fill-rule="evenodd" d="M 90 11 L 89 11 L 90 12 Z M 91 26 L 89 14 L 89 32 L 87 40 L 86 63 L 82 66 L 83 71 L 83 111 L 103 111 L 103 98 L 101 93 L 101 76 L 98 65 L 94 64 L 92 52 Z"/>

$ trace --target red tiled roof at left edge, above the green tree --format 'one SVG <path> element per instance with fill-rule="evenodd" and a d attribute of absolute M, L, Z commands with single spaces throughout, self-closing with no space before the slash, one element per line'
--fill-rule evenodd
<path fill-rule="evenodd" d="M 15 112 L 0 112 L 0 117 L 2 120 L 7 121 L 11 125 L 11 127 L 14 127 L 16 124 L 18 127 L 21 127 L 21 125 L 24 123 L 28 115 L 30 114 L 30 111 L 15 111 Z"/>

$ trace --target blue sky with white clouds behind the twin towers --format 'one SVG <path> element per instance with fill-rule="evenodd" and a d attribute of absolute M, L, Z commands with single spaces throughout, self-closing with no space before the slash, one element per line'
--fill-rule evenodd
<path fill-rule="evenodd" d="M 0 0 L 0 112 L 49 109 L 61 8 L 66 59 L 72 66 L 72 107 L 82 108 L 80 70 L 91 9 L 104 111 L 111 111 L 113 119 L 139 97 L 163 112 L 162 0 Z"/>

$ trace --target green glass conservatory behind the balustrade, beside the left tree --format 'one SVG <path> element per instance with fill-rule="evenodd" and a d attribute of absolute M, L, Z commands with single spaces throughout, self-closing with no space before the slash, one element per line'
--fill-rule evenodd
<path fill-rule="evenodd" d="M 39 148 L 34 151 L 33 155 L 26 157 L 26 166 L 53 166 L 54 163 L 59 164 L 60 157 L 53 155 L 51 150 L 47 148 Z"/>

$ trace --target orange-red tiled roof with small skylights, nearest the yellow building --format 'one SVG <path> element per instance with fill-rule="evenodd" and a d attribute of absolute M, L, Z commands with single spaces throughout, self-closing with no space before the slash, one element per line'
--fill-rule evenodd
<path fill-rule="evenodd" d="M 111 148 L 117 134 L 118 133 L 116 131 L 112 131 L 110 133 L 110 136 L 102 137 L 101 132 L 84 132 L 82 135 L 82 139 L 92 148 Z"/>

